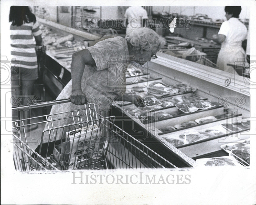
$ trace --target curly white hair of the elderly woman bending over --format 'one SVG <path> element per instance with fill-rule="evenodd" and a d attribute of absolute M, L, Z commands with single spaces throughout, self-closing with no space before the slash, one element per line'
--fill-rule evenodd
<path fill-rule="evenodd" d="M 166 43 L 162 36 L 150 28 L 136 28 L 125 36 L 125 40 L 136 51 L 142 49 L 153 53 L 156 53 Z"/>

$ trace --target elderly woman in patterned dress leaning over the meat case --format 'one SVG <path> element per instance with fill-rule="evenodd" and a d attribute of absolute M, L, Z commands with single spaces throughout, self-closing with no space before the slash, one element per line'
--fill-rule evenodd
<path fill-rule="evenodd" d="M 152 29 L 139 28 L 134 29 L 125 38 L 105 39 L 74 53 L 71 81 L 57 97 L 70 98 L 71 103 L 52 106 L 51 114 L 79 109 L 86 102 L 94 103 L 99 109 L 98 112 L 109 111 L 112 99 L 130 101 L 139 106 L 139 96 L 125 93 L 127 66 L 131 62 L 142 65 L 157 58 L 156 53 L 164 44 L 164 38 Z M 69 124 L 60 120 L 56 123 L 59 123 L 59 126 Z"/>

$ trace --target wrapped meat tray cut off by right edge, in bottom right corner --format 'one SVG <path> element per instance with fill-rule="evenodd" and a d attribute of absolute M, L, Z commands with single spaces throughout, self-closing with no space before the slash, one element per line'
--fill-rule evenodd
<path fill-rule="evenodd" d="M 238 147 L 230 151 L 230 155 L 234 156 L 239 162 L 250 166 L 250 145 Z"/>

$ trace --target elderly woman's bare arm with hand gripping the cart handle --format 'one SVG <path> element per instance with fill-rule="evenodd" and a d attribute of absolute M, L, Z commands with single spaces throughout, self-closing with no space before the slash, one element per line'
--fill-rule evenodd
<path fill-rule="evenodd" d="M 93 60 L 92 55 L 88 49 L 83 49 L 72 55 L 72 94 L 69 98 L 71 102 L 75 105 L 84 105 L 88 101 L 86 95 L 82 92 L 81 88 L 82 75 L 84 72 L 85 65 L 96 66 L 95 61 Z"/>

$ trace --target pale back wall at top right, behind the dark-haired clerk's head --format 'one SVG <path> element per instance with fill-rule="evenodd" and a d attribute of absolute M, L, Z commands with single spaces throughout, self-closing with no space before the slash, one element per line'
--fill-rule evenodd
<path fill-rule="evenodd" d="M 224 11 L 225 6 L 195 6 L 195 14 L 207 14 L 208 17 L 212 19 L 225 19 L 225 11 Z M 163 10 L 164 9 L 164 10 Z M 187 16 L 191 16 L 194 14 L 194 7 L 193 6 L 153 6 L 152 7 L 152 12 L 170 12 L 172 13 L 178 13 L 178 14 L 183 14 Z M 250 14 L 250 7 L 242 6 L 242 11 L 240 13 L 239 18 L 244 19 L 247 18 L 249 19 L 249 14 Z"/>

